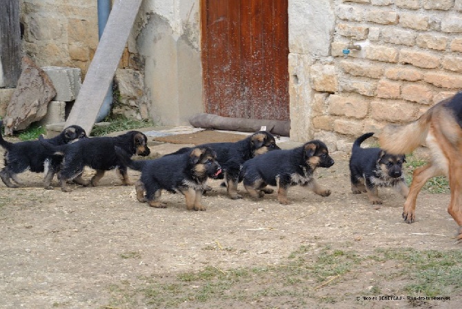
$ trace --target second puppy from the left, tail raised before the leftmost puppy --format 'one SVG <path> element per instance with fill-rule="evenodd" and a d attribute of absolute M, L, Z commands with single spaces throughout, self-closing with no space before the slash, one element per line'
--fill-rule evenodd
<path fill-rule="evenodd" d="M 123 164 L 114 152 L 114 147 L 119 146 L 130 155 L 147 156 L 150 154 L 148 139 L 139 131 L 130 131 L 117 137 L 91 137 L 82 139 L 67 145 L 54 146 L 43 137 L 39 141 L 45 148 L 54 154 L 63 155 L 59 183 L 61 190 L 71 192 L 68 181 L 74 181 L 82 186 L 97 186 L 98 181 L 104 176 L 106 170 L 116 169 L 123 185 L 127 186 L 130 179 L 127 174 L 127 166 Z M 88 166 L 97 171 L 90 181 L 84 180 L 81 175 L 83 168 Z"/>

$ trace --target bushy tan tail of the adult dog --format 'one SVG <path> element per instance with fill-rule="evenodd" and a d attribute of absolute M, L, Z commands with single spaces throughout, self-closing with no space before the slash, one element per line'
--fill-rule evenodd
<path fill-rule="evenodd" d="M 392 155 L 412 152 L 425 143 L 434 108 L 430 108 L 416 121 L 403 126 L 390 125 L 383 128 L 379 143 L 383 150 Z"/>

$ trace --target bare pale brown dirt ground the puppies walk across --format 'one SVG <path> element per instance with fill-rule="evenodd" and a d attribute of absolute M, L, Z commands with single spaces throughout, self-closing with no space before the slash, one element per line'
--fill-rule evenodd
<path fill-rule="evenodd" d="M 151 149 L 157 147 L 165 145 Z M 44 190 L 43 175 L 25 172 L 20 175 L 24 188 L 0 186 L 0 307 L 109 308 L 104 306 L 111 283 L 206 266 L 277 265 L 305 245 L 329 244 L 363 255 L 376 248 L 461 248 L 454 244 L 456 223 L 446 212 L 449 195 L 422 192 L 416 222 L 407 224 L 396 192 L 379 190 L 385 202 L 374 210 L 365 195 L 350 190 L 348 156 L 336 152 L 332 157 L 332 168 L 317 171 L 319 183 L 332 190 L 330 197 L 294 187 L 288 195 L 292 203 L 281 206 L 274 194 L 250 199 L 240 185 L 244 198 L 234 201 L 219 181 L 210 181 L 214 190 L 203 198 L 205 212 L 187 211 L 183 196 L 167 192 L 162 199 L 168 208 L 150 208 L 137 201 L 133 186 L 121 186 L 112 171 L 96 188 L 74 186 L 70 193 Z M 84 175 L 90 176 L 91 171 Z M 130 176 L 137 179 L 139 173 L 130 171 Z M 130 252 L 140 258 L 121 258 Z M 374 274 L 368 276 L 373 279 Z M 352 297 L 330 308 L 356 308 L 354 296 L 372 279 L 355 286 L 338 283 L 335 289 L 350 290 Z M 450 296 L 450 302 L 433 303 L 433 308 L 459 308 L 461 295 Z M 387 306 L 368 303 L 361 308 L 401 308 Z M 290 307 L 267 302 L 249 308 Z"/>

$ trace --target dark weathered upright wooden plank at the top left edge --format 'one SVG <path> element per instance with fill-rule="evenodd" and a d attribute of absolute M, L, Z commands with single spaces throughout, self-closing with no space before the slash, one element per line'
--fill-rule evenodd
<path fill-rule="evenodd" d="M 14 88 L 21 75 L 19 1 L 0 0 L 0 87 Z"/>

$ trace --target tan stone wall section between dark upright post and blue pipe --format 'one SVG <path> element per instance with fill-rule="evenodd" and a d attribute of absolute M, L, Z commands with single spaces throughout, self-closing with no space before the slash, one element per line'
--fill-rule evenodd
<path fill-rule="evenodd" d="M 37 66 L 80 68 L 98 45 L 97 1 L 21 0 L 23 50 Z"/>

